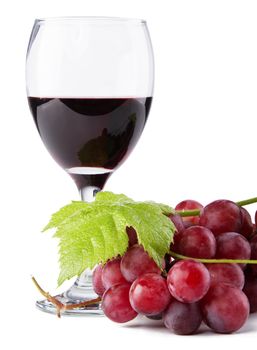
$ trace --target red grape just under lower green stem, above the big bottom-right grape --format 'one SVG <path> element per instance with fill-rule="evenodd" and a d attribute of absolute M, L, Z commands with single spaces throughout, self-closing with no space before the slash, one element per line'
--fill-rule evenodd
<path fill-rule="evenodd" d="M 227 283 L 243 289 L 245 277 L 237 264 L 206 264 L 206 267 L 211 276 L 211 286 Z"/>

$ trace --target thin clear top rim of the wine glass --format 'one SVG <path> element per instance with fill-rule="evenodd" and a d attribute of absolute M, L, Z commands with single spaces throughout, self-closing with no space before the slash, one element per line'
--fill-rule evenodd
<path fill-rule="evenodd" d="M 109 16 L 60 16 L 60 17 L 42 17 L 36 18 L 35 23 L 54 23 L 54 22 L 96 22 L 96 23 L 134 23 L 146 24 L 146 20 L 130 17 L 109 17 Z"/>

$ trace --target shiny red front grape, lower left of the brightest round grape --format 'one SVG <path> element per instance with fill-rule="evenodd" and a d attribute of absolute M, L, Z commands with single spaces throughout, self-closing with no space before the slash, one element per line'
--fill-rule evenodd
<path fill-rule="evenodd" d="M 166 309 L 171 300 L 166 280 L 156 273 L 146 273 L 132 284 L 129 300 L 133 309 L 146 316 L 153 316 Z"/>

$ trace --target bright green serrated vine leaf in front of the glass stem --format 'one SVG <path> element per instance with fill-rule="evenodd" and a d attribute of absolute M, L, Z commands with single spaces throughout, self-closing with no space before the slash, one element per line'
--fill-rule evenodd
<path fill-rule="evenodd" d="M 161 267 L 175 231 L 167 205 L 135 202 L 123 194 L 99 192 L 92 203 L 72 202 L 53 214 L 43 231 L 56 229 L 59 239 L 58 285 L 86 268 L 122 256 L 128 248 L 127 226 Z"/>

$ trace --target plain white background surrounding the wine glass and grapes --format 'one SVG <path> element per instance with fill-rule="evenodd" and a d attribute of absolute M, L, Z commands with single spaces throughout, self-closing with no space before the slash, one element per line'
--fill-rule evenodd
<path fill-rule="evenodd" d="M 175 205 L 257 195 L 257 3 L 229 0 L 9 0 L 0 4 L 1 349 L 193 349 L 246 347 L 257 318 L 234 335 L 170 334 L 136 321 L 65 318 L 39 312 L 31 283 L 56 292 L 57 242 L 40 230 L 79 199 L 51 159 L 26 103 L 26 47 L 37 17 L 145 18 L 155 53 L 153 106 L 139 144 L 106 190 Z M 256 206 L 250 208 L 254 213 Z M 65 286 L 63 286 L 65 288 Z M 61 288 L 62 290 L 62 288 Z"/>

